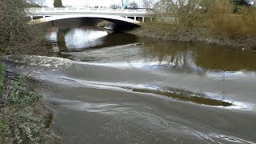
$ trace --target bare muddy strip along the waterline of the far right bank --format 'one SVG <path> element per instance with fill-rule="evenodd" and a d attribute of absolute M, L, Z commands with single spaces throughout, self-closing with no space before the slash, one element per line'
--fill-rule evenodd
<path fill-rule="evenodd" d="M 212 43 L 221 46 L 230 46 L 231 48 L 237 50 L 250 50 L 256 52 L 256 38 L 246 38 L 246 37 L 232 37 L 232 38 L 220 38 L 215 36 L 207 36 L 202 32 L 194 32 L 190 30 L 182 30 L 169 32 L 167 30 L 161 29 L 149 29 L 146 27 L 141 27 L 138 29 L 126 31 L 126 33 L 137 35 L 142 38 L 153 38 L 160 39 L 163 41 L 178 41 L 178 42 L 202 42 L 202 43 Z"/>

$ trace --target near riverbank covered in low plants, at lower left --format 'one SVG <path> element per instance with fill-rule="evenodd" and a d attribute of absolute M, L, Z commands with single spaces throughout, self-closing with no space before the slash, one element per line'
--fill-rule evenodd
<path fill-rule="evenodd" d="M 53 114 L 37 94 L 33 78 L 4 75 L 0 106 L 0 143 L 58 143 L 50 130 Z"/>

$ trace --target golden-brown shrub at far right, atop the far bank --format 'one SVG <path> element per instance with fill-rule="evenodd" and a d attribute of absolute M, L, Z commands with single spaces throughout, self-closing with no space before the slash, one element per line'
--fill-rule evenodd
<path fill-rule="evenodd" d="M 256 37 L 256 9 L 243 6 L 241 15 L 233 14 L 234 6 L 227 0 L 216 0 L 208 20 L 210 34 L 226 38 Z"/>

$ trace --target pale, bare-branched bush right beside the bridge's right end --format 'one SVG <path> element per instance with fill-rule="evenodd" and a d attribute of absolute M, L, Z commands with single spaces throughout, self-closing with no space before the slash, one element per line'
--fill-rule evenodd
<path fill-rule="evenodd" d="M 207 8 L 212 2 L 207 0 L 162 0 L 156 4 L 154 14 L 166 22 L 166 16 L 174 17 L 174 29 L 191 29 L 203 24 Z"/>

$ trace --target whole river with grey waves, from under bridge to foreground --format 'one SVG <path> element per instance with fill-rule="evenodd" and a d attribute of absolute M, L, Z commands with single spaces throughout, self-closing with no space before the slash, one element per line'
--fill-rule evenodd
<path fill-rule="evenodd" d="M 9 56 L 45 82 L 62 143 L 254 143 L 256 54 L 93 27 L 52 28 L 53 57 Z"/>

